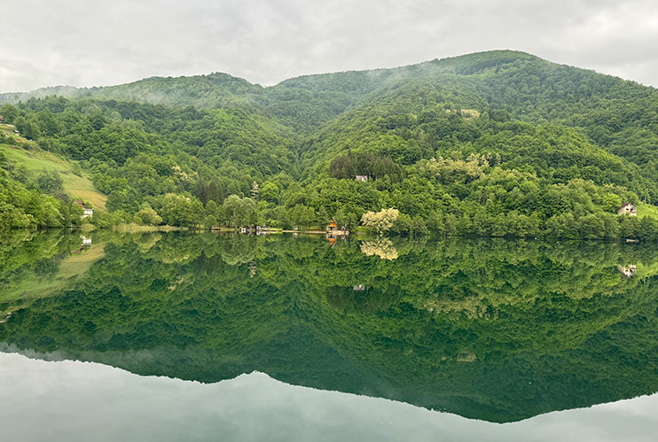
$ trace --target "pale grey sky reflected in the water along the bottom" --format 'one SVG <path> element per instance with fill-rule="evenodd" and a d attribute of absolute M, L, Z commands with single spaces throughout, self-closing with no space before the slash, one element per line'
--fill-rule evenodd
<path fill-rule="evenodd" d="M 278 382 L 217 384 L 136 376 L 74 361 L 0 353 L 4 440 L 653 441 L 658 395 L 487 423 L 387 399 Z"/>

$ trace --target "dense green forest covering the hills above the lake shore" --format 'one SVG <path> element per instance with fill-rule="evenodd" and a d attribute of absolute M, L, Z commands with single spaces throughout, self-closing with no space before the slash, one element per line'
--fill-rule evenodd
<path fill-rule="evenodd" d="M 522 52 L 268 88 L 209 74 L 0 103 L 5 228 L 82 222 L 61 176 L 4 154 L 21 150 L 89 176 L 107 198 L 84 221 L 98 227 L 333 217 L 414 237 L 658 239 L 658 90 Z M 617 215 L 623 203 L 638 216 Z M 383 209 L 395 216 L 369 221 Z"/>

